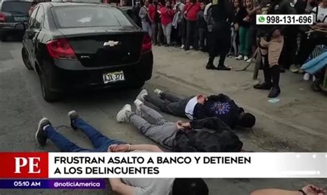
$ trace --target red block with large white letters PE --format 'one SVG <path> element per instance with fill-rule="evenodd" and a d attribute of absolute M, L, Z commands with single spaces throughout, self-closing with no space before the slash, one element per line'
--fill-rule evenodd
<path fill-rule="evenodd" d="M 0 152 L 0 179 L 48 179 L 48 152 Z"/>

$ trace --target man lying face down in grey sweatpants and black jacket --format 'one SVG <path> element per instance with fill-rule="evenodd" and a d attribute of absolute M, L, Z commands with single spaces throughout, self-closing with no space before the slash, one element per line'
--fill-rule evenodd
<path fill-rule="evenodd" d="M 174 152 L 240 152 L 243 143 L 230 127 L 217 117 L 195 119 L 192 122 L 169 122 L 157 111 L 135 100 L 117 113 L 118 122 L 131 122 L 146 137 Z M 155 121 L 155 124 L 151 124 Z"/>

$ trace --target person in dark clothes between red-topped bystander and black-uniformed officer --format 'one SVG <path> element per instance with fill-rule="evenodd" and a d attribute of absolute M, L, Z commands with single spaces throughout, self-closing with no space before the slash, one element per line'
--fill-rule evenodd
<path fill-rule="evenodd" d="M 199 49 L 201 51 L 206 51 L 206 32 L 207 32 L 207 23 L 204 20 L 204 8 L 206 4 L 204 2 L 200 3 L 201 10 L 197 13 L 197 27 L 199 28 Z"/>

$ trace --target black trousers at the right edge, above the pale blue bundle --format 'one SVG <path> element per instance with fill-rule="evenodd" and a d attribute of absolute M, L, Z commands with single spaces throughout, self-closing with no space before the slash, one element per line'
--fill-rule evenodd
<path fill-rule="evenodd" d="M 303 65 L 317 45 L 327 45 L 327 36 L 303 38 L 297 53 L 297 64 Z"/>

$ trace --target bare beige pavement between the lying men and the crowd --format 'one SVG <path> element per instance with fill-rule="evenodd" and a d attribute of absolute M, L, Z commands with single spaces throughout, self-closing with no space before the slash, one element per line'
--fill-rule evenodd
<path fill-rule="evenodd" d="M 301 75 L 281 73 L 279 102 L 268 102 L 268 91 L 252 88 L 259 82 L 248 71 L 235 71 L 246 65 L 244 61 L 227 58 L 232 71 L 206 70 L 207 54 L 178 48 L 154 47 L 155 75 L 201 90 L 198 93 L 225 93 L 257 116 L 254 130 L 265 135 L 294 141 L 310 151 L 327 150 L 326 95 L 310 89 L 310 82 Z M 170 58 L 165 58 L 170 56 Z M 217 61 L 215 62 L 217 65 Z M 262 72 L 259 73 L 262 79 Z M 177 91 L 172 91 L 177 93 Z M 185 95 L 188 91 L 184 92 Z"/>

